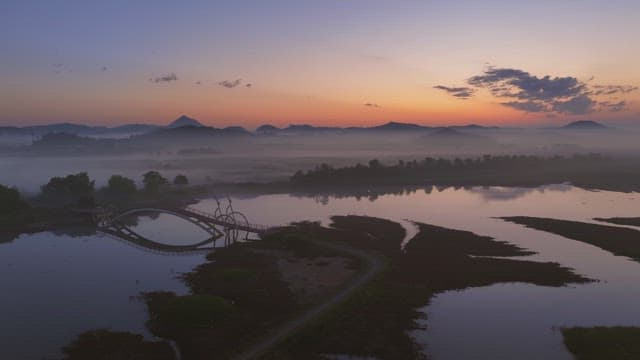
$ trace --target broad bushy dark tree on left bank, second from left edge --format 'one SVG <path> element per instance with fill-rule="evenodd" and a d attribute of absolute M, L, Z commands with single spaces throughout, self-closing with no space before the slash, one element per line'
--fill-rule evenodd
<path fill-rule="evenodd" d="M 86 172 L 53 177 L 41 187 L 42 199 L 55 205 L 93 205 L 94 182 Z"/>

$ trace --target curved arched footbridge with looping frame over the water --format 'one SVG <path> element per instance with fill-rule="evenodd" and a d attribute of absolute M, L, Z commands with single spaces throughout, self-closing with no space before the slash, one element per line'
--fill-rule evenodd
<path fill-rule="evenodd" d="M 137 208 L 121 213 L 113 207 L 97 208 L 92 211 L 98 229 L 113 238 L 122 240 L 137 248 L 150 250 L 162 254 L 194 254 L 214 249 L 218 240 L 227 246 L 239 240 L 249 240 L 250 234 L 264 234 L 269 227 L 251 224 L 246 216 L 233 210 L 231 203 L 225 211 L 216 209 L 214 213 L 207 213 L 191 207 L 185 208 Z M 157 242 L 135 232 L 127 225 L 132 216 L 143 214 L 169 214 L 182 218 L 203 229 L 209 238 L 188 245 L 172 245 Z M 222 245 L 222 244 L 221 244 Z"/>

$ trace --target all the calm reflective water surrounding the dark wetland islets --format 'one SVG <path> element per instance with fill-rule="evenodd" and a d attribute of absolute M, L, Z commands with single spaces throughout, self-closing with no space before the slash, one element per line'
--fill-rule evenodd
<path fill-rule="evenodd" d="M 213 200 L 195 207 L 213 211 Z M 592 192 L 557 185 L 540 189 L 474 188 L 419 190 L 375 199 L 265 195 L 234 198 L 249 220 L 267 225 L 296 220 L 328 222 L 331 215 L 358 214 L 433 223 L 493 236 L 556 261 L 595 284 L 548 288 L 499 284 L 438 295 L 423 311 L 428 330 L 413 335 L 436 359 L 570 359 L 554 327 L 640 325 L 640 264 L 593 246 L 526 229 L 493 217 L 545 216 L 591 221 L 593 217 L 640 216 L 640 196 Z M 188 244 L 206 234 L 181 219 L 141 218 L 142 235 Z M 97 235 L 39 233 L 0 243 L 0 359 L 56 356 L 79 333 L 111 328 L 143 333 L 143 291 L 187 291 L 176 279 L 204 255 L 166 256 Z"/>

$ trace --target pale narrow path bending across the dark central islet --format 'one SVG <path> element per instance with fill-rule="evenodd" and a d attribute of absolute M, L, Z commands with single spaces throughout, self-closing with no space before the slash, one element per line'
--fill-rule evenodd
<path fill-rule="evenodd" d="M 279 328 L 275 329 L 265 338 L 261 339 L 258 343 L 246 349 L 243 353 L 237 356 L 236 359 L 257 359 L 272 346 L 283 341 L 285 338 L 291 335 L 294 331 L 302 328 L 304 325 L 314 320 L 316 317 L 318 317 L 320 314 L 322 314 L 332 306 L 345 300 L 349 295 L 365 285 L 367 282 L 369 282 L 369 280 L 373 279 L 373 277 L 377 275 L 384 267 L 384 260 L 381 257 L 374 256 L 364 250 L 359 250 L 342 244 L 334 244 L 325 241 L 311 241 L 318 246 L 323 246 L 332 250 L 359 257 L 360 259 L 366 261 L 366 269 L 360 271 L 356 276 L 354 276 L 351 279 L 351 283 L 342 288 L 338 293 L 331 296 L 325 302 L 306 310 L 300 316 L 296 317 L 295 319 L 289 320 Z"/>

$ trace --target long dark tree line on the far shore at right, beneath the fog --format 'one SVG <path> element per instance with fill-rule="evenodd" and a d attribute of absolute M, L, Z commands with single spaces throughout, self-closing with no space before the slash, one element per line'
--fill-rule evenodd
<path fill-rule="evenodd" d="M 598 154 L 572 157 L 527 155 L 485 155 L 477 158 L 422 160 L 334 168 L 321 164 L 307 172 L 298 171 L 290 183 L 297 187 L 332 188 L 364 185 L 487 185 L 540 186 L 571 182 L 577 186 L 622 191 L 638 190 L 640 171 L 631 160 L 611 159 Z"/>

